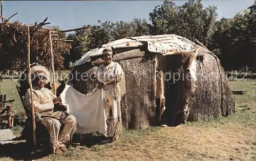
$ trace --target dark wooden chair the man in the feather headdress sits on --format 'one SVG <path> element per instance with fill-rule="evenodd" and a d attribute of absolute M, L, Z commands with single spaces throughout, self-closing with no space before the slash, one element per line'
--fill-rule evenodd
<path fill-rule="evenodd" d="M 25 137 L 25 139 L 27 140 L 27 143 L 31 145 L 30 147 L 33 147 L 33 124 L 32 124 L 31 112 L 24 103 L 24 96 L 22 96 L 22 94 L 20 93 L 20 87 L 17 85 L 16 88 L 17 88 L 20 100 L 22 101 L 23 108 L 27 115 L 26 125 L 23 130 L 22 136 Z M 47 128 L 41 122 L 37 122 L 37 121 L 35 121 L 35 126 L 36 126 L 35 134 L 36 134 L 37 149 L 41 145 L 44 145 L 43 149 L 48 150 L 50 147 L 50 136 Z"/>

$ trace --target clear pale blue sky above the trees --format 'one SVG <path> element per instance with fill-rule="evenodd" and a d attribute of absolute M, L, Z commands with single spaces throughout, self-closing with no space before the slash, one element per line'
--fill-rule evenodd
<path fill-rule="evenodd" d="M 183 5 L 186 1 L 174 1 Z M 218 7 L 218 19 L 232 18 L 236 13 L 251 6 L 253 0 L 203 1 L 204 7 Z M 84 24 L 98 24 L 98 20 L 131 21 L 133 18 L 149 19 L 149 13 L 163 1 L 3 1 L 3 16 L 11 22 L 23 24 L 39 23 L 48 17 L 47 22 L 58 25 L 62 30 L 80 28 Z"/>

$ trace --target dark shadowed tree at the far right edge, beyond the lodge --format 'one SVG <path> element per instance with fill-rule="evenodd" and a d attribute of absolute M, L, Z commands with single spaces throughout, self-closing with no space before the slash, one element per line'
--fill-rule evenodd
<path fill-rule="evenodd" d="M 255 9 L 253 6 L 236 14 L 233 18 L 217 21 L 217 30 L 212 36 L 211 50 L 218 50 L 224 69 L 240 70 L 255 65 Z"/>

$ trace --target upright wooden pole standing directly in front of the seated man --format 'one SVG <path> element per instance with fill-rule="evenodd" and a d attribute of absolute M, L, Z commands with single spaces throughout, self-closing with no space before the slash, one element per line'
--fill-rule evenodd
<path fill-rule="evenodd" d="M 34 99 L 33 99 L 33 91 L 32 91 L 32 81 L 31 81 L 31 69 L 30 69 L 30 33 L 28 26 L 28 71 L 29 71 L 29 88 L 30 88 L 30 97 L 31 97 L 31 112 L 32 112 L 32 124 L 33 124 L 33 141 L 34 141 L 34 150 L 36 152 L 36 138 L 35 138 L 35 110 L 34 110 Z"/>

